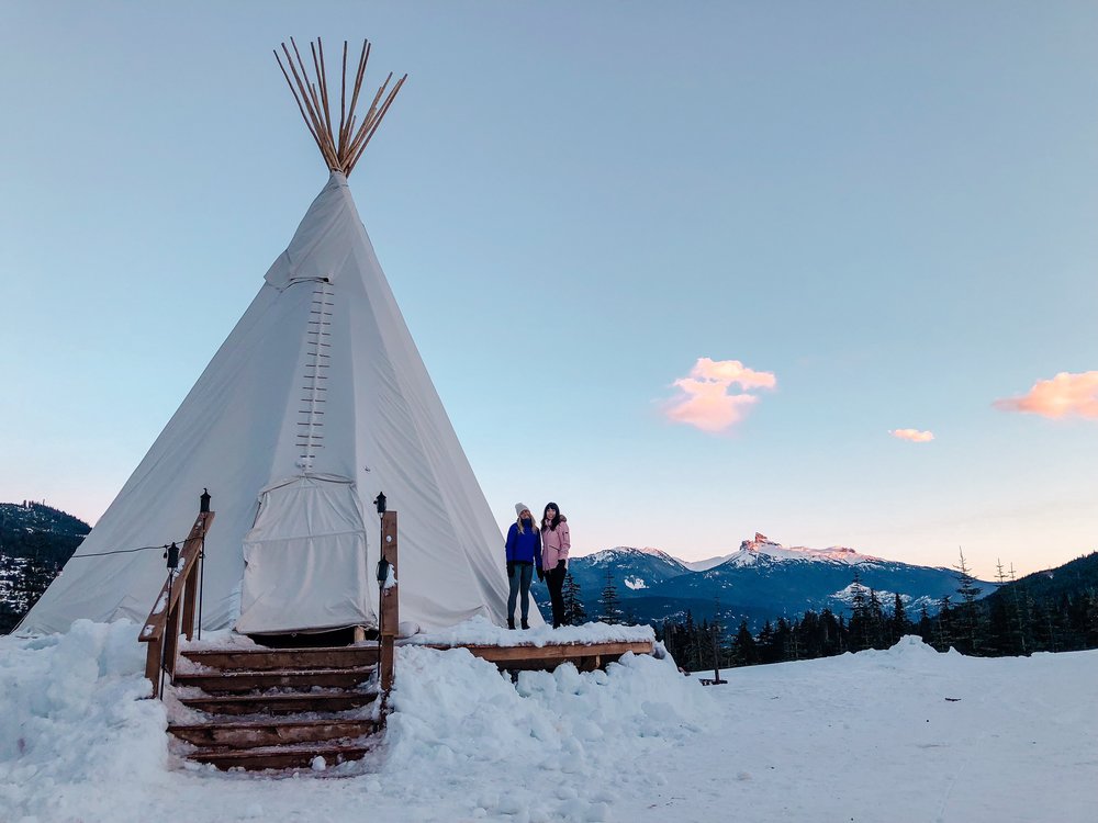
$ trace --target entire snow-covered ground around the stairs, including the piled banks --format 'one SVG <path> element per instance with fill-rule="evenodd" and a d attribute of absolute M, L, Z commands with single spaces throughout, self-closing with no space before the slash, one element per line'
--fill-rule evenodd
<path fill-rule="evenodd" d="M 704 688 L 647 656 L 512 684 L 403 647 L 383 747 L 272 779 L 169 755 L 135 631 L 0 639 L 0 821 L 1098 820 L 1098 652 L 905 639 Z"/>

